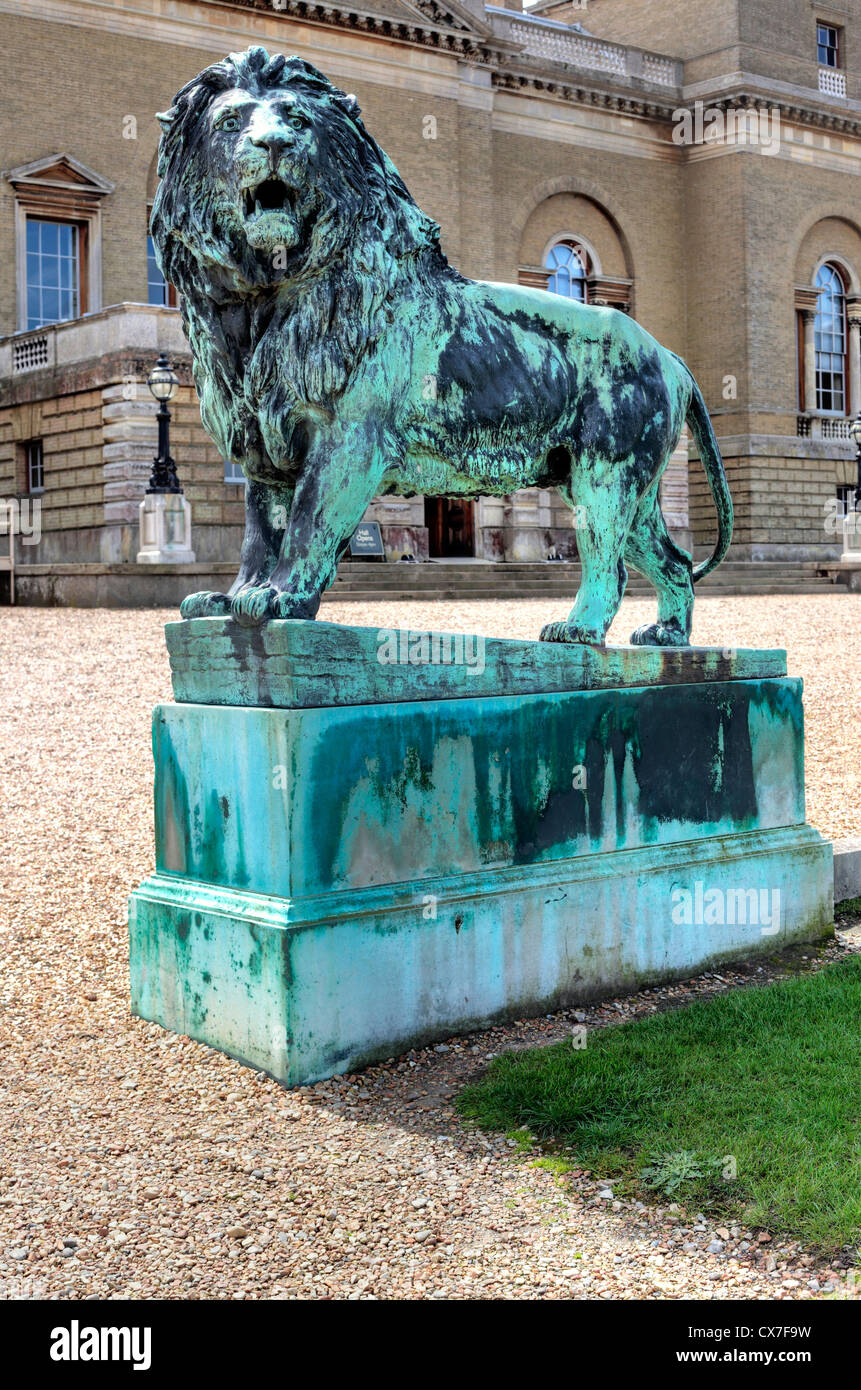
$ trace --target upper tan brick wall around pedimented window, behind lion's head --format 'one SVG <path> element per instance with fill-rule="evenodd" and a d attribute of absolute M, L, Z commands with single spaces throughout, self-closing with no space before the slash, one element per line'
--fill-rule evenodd
<path fill-rule="evenodd" d="M 280 44 L 291 51 L 295 25 L 282 19 Z M 196 49 L 88 31 L 4 14 L 7 71 L 15 72 L 4 92 L 3 168 L 29 164 L 47 154 L 70 154 L 115 183 L 102 200 L 103 304 L 146 302 L 147 182 L 159 145 L 154 113 L 224 49 Z M 273 46 L 274 47 L 274 46 Z M 45 72 L 51 74 L 46 100 Z M 110 81 L 108 81 L 110 75 Z M 367 128 L 406 179 L 410 192 L 444 228 L 452 260 L 459 245 L 462 135 L 455 100 L 403 89 L 353 82 Z M 127 115 L 136 120 L 136 139 L 122 135 Z M 426 139 L 424 117 L 433 115 L 437 138 Z M 470 171 L 472 178 L 472 171 Z M 472 200 L 473 192 L 469 192 Z M 473 245 L 466 256 L 476 252 Z M 15 254 L 14 195 L 0 181 L 0 335 L 14 332 Z"/>

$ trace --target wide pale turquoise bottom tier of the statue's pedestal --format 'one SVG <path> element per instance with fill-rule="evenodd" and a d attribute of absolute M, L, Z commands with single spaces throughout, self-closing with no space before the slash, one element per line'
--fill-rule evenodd
<path fill-rule="evenodd" d="M 719 917 L 715 902 L 727 916 L 740 884 L 757 920 L 695 920 Z M 156 876 L 132 898 L 132 1012 L 306 1086 L 812 941 L 832 931 L 830 891 L 830 847 L 810 827 L 303 902 Z"/>

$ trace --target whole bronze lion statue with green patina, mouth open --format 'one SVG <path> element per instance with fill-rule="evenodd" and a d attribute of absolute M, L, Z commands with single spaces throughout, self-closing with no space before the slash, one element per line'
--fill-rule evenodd
<path fill-rule="evenodd" d="M 555 486 L 581 518 L 573 612 L 541 637 L 604 642 L 626 564 L 658 592 L 634 642 L 686 645 L 693 582 L 732 502 L 684 363 L 631 318 L 470 281 L 364 129 L 355 97 L 264 49 L 206 68 L 159 118 L 152 229 L 181 293 L 203 423 L 246 475 L 230 594 L 184 617 L 314 617 L 374 496 Z M 658 486 L 690 423 L 718 509 L 691 566 Z"/>

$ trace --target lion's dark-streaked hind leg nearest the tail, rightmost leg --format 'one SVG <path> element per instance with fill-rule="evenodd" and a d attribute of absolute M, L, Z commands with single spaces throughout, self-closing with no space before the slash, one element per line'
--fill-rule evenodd
<path fill-rule="evenodd" d="M 689 646 L 694 612 L 691 557 L 669 535 L 657 488 L 637 509 L 625 557 L 658 592 L 658 621 L 638 627 L 631 642 L 637 646 Z"/>

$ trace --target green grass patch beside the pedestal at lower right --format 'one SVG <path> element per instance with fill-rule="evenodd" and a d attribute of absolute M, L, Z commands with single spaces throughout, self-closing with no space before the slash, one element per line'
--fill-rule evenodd
<path fill-rule="evenodd" d="M 583 1049 L 505 1054 L 458 1108 L 483 1129 L 526 1126 L 620 1194 L 857 1244 L 861 956 L 594 1030 Z"/>

